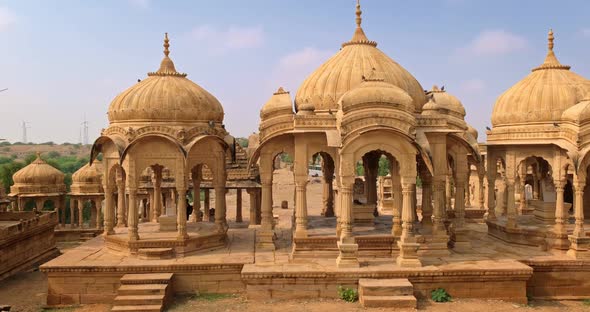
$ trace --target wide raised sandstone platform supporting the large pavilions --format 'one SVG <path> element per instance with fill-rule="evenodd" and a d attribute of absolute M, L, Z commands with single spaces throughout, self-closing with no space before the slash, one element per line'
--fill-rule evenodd
<path fill-rule="evenodd" d="M 171 259 L 147 260 L 114 252 L 105 246 L 103 237 L 96 237 L 41 266 L 48 277 L 48 305 L 112 303 L 121 277 L 128 273 L 174 273 L 171 287 L 177 294 L 245 293 L 252 300 L 336 298 L 338 286 L 357 288 L 362 278 L 407 278 L 418 298 L 439 287 L 454 298 L 518 303 L 526 302 L 527 295 L 543 299 L 590 297 L 590 262 L 572 260 L 564 251 L 506 244 L 488 235 L 485 224 L 469 223 L 470 244 L 455 247 L 447 256 L 422 257 L 420 268 L 397 266 L 398 252 L 392 250 L 383 256 L 361 254 L 359 268 L 339 269 L 335 255 L 290 257 L 289 217 L 279 218 L 274 251 L 256 249 L 256 230 L 232 223 L 223 247 Z M 384 230 L 379 223 L 372 231 L 355 225 L 357 235 L 385 236 Z M 311 237 L 324 231 L 334 229 L 312 227 Z"/>

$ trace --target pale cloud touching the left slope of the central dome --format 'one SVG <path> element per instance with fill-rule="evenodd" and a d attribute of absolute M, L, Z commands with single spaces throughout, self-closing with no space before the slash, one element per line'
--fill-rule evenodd
<path fill-rule="evenodd" d="M 332 54 L 334 54 L 333 51 L 313 47 L 286 54 L 277 63 L 269 83 L 272 84 L 273 89 L 279 86 L 285 87 L 294 96 L 303 80 L 327 61 Z"/>

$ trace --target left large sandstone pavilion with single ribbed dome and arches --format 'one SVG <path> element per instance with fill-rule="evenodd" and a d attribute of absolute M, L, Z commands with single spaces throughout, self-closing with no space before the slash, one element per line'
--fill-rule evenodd
<path fill-rule="evenodd" d="M 224 245 L 227 235 L 228 145 L 224 140 L 228 133 L 223 126 L 223 107 L 211 93 L 189 80 L 187 74 L 176 70 L 169 57 L 169 46 L 166 34 L 160 68 L 111 102 L 109 127 L 102 131 L 92 150 L 91 159 L 99 153 L 103 157 L 107 246 L 131 253 L 140 247 L 145 251 L 155 246 L 187 253 Z M 189 181 L 200 185 L 204 169 L 210 170 L 215 190 L 215 223 L 187 225 Z M 170 200 L 162 196 L 164 170 L 173 181 Z M 138 227 L 138 190 L 146 172 L 153 180 L 149 218 L 153 222 Z"/>

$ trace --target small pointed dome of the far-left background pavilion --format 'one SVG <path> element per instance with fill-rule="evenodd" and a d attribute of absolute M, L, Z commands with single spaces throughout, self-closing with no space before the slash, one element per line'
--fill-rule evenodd
<path fill-rule="evenodd" d="M 61 171 L 46 163 L 37 153 L 37 159 L 12 176 L 14 185 L 10 188 L 11 193 L 18 193 L 23 187 L 40 192 L 63 192 L 66 188 L 64 177 Z"/>

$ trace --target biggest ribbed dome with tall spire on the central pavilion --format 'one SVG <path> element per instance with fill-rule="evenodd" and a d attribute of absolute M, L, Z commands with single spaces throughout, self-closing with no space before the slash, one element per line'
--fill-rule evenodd
<path fill-rule="evenodd" d="M 377 49 L 377 43 L 367 39 L 361 28 L 361 10 L 357 4 L 357 28 L 352 40 L 321 65 L 301 84 L 295 96 L 295 108 L 311 105 L 316 112 L 336 111 L 340 97 L 363 82 L 376 68 L 386 83 L 401 88 L 410 95 L 416 112 L 426 103 L 424 89 L 401 65 Z"/>

